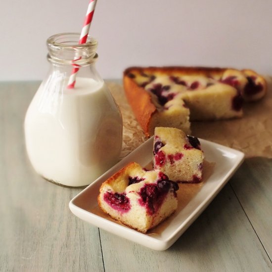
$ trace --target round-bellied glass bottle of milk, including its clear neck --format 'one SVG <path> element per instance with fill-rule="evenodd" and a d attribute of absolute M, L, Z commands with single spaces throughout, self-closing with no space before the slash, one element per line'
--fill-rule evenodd
<path fill-rule="evenodd" d="M 122 116 L 95 70 L 97 41 L 64 33 L 47 40 L 50 71 L 25 117 L 29 159 L 38 174 L 66 186 L 90 184 L 118 162 Z M 79 67 L 73 89 L 67 88 Z"/>

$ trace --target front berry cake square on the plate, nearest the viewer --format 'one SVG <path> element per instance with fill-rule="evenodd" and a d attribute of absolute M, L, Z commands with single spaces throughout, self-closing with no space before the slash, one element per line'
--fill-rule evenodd
<path fill-rule="evenodd" d="M 130 163 L 102 183 L 98 204 L 113 219 L 145 233 L 176 211 L 178 189 L 161 171 Z"/>

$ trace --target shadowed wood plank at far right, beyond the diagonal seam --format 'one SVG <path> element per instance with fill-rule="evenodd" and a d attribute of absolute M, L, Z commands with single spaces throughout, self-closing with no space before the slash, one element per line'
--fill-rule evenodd
<path fill-rule="evenodd" d="M 231 186 L 272 260 L 272 159 L 246 159 L 234 177 Z"/>

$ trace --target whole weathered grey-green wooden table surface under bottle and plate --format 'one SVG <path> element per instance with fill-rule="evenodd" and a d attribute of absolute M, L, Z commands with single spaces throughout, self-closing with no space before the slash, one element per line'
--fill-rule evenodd
<path fill-rule="evenodd" d="M 246 159 L 166 251 L 154 251 L 74 216 L 82 189 L 39 177 L 23 121 L 39 82 L 0 83 L 0 271 L 272 271 L 272 159 Z"/>

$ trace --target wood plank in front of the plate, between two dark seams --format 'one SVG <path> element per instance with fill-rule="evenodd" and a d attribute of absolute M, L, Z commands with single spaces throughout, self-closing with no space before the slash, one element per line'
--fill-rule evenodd
<path fill-rule="evenodd" d="M 230 185 L 163 252 L 100 230 L 105 271 L 271 271 L 272 264 Z"/>

